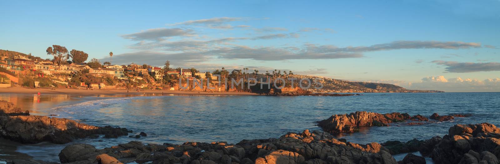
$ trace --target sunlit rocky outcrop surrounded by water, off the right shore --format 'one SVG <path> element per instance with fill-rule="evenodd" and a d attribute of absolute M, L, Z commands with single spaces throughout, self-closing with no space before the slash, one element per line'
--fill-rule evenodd
<path fill-rule="evenodd" d="M 379 114 L 373 112 L 354 112 L 350 114 L 340 114 L 332 115 L 328 119 L 318 121 L 317 126 L 321 127 L 324 131 L 330 133 L 352 133 L 358 132 L 360 127 L 372 127 L 372 126 L 389 126 L 390 123 L 396 122 L 406 122 L 408 125 L 418 125 L 432 122 L 442 122 L 454 119 L 454 117 L 468 117 L 469 114 L 454 114 L 448 116 L 439 116 L 434 113 L 429 118 L 435 121 L 431 121 L 422 115 L 410 116 L 407 113 L 387 113 Z"/>

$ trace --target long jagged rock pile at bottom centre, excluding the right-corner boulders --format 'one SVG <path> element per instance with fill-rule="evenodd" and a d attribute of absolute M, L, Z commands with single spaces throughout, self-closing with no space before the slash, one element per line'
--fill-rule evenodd
<path fill-rule="evenodd" d="M 68 146 L 69 147 L 69 146 Z M 340 142 L 330 134 L 308 130 L 302 133 L 287 133 L 277 139 L 243 140 L 237 144 L 225 142 L 187 142 L 182 145 L 163 145 L 140 142 L 119 144 L 102 150 L 78 151 L 82 145 L 66 147 L 59 157 L 61 162 L 75 157 L 86 160 L 106 154 L 122 163 L 153 164 L 396 164 L 384 147 L 376 143 L 358 145 Z M 73 151 L 69 151 L 73 150 Z M 71 153 L 69 153 L 71 152 Z M 82 155 L 77 152 L 86 152 Z M 74 154 L 74 155 L 73 155 Z M 74 160 L 71 160 L 74 161 Z M 79 161 L 76 161 L 79 162 Z M 95 161 L 94 161 L 95 162 Z"/>

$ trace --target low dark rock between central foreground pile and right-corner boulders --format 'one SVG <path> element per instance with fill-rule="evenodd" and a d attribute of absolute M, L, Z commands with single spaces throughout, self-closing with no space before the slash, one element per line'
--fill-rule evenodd
<path fill-rule="evenodd" d="M 413 139 L 407 142 L 400 141 L 387 141 L 382 143 L 381 145 L 388 149 L 391 155 L 397 155 L 401 153 L 410 153 L 416 152 L 423 145 L 424 141 L 419 141 L 417 139 Z"/>

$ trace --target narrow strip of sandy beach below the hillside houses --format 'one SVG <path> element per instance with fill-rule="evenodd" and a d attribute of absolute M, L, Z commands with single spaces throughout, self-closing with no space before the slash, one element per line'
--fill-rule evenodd
<path fill-rule="evenodd" d="M 55 90 L 53 90 L 55 89 Z M 67 94 L 78 96 L 94 96 L 94 95 L 121 95 L 121 94 L 137 94 L 137 95 L 240 95 L 240 96 L 258 96 L 255 93 L 249 92 L 199 92 L 199 91 L 170 91 L 170 90 L 125 90 L 125 89 L 70 89 L 70 88 L 24 88 L 24 87 L 9 87 L 0 88 L 0 93 L 24 93 L 24 94 Z"/>

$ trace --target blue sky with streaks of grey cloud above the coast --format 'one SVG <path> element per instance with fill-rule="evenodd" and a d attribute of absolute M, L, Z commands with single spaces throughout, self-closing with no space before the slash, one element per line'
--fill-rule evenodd
<path fill-rule="evenodd" d="M 0 49 L 500 91 L 500 0 L 0 1 Z"/>

